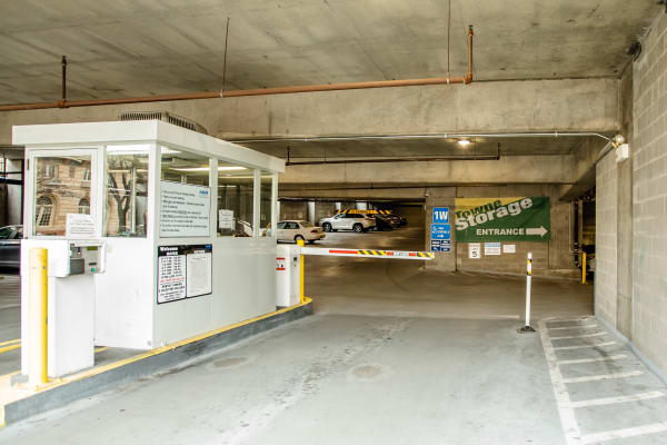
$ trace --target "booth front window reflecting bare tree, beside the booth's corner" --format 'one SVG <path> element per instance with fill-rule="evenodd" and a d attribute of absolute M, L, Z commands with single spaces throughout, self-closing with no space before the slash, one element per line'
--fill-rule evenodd
<path fill-rule="evenodd" d="M 107 146 L 104 236 L 146 237 L 149 150 L 149 145 Z"/>

